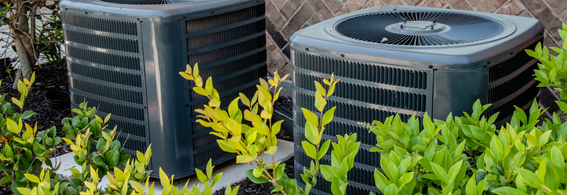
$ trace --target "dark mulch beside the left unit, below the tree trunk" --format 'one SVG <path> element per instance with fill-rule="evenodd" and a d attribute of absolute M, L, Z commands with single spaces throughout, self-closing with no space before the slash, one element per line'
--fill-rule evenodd
<path fill-rule="evenodd" d="M 61 120 L 65 117 L 71 116 L 71 109 L 66 108 L 53 108 L 49 104 L 44 103 L 44 93 L 50 88 L 62 88 L 67 90 L 69 88 L 69 79 L 67 79 L 67 65 L 65 61 L 58 63 L 46 63 L 41 66 L 36 66 L 33 68 L 36 73 L 35 84 L 30 90 L 28 99 L 24 105 L 24 111 L 33 111 L 37 115 L 24 120 L 27 124 L 33 126 L 37 122 L 37 130 L 46 130 L 52 126 L 57 128 L 57 137 L 65 137 L 65 133 L 61 130 Z M 15 72 L 15 71 L 14 71 Z M 12 73 L 12 77 L 13 77 Z M 2 79 L 2 85 L 0 85 L 0 94 L 7 94 L 6 100 L 11 102 L 12 97 L 20 97 L 20 93 L 17 89 L 12 89 L 12 79 L 10 77 L 0 78 Z M 14 108 L 16 112 L 20 112 L 20 108 L 15 105 Z M 66 154 L 70 152 L 69 144 L 61 143 L 56 146 L 56 155 Z M 51 157 L 53 157 L 52 154 Z M 0 176 L 2 177 L 3 174 Z M 10 184 L 0 185 L 0 195 L 12 194 L 10 190 Z"/>

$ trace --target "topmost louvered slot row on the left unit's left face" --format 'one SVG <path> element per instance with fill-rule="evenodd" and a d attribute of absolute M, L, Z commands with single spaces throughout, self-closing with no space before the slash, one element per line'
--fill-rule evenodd
<path fill-rule="evenodd" d="M 95 18 L 79 14 L 71 14 L 63 11 L 61 13 L 63 24 L 91 29 L 94 31 L 117 33 L 122 35 L 138 36 L 138 28 L 134 22 L 125 22 L 119 20 L 109 20 L 103 18 Z"/>

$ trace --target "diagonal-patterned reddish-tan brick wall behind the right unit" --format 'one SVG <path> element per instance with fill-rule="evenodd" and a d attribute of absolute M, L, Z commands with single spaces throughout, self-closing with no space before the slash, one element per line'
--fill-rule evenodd
<path fill-rule="evenodd" d="M 557 46 L 567 23 L 567 0 L 266 0 L 268 70 L 291 73 L 289 37 L 312 24 L 368 7 L 392 4 L 521 15 L 545 25 L 545 45 Z M 289 77 L 291 78 L 291 77 Z"/>

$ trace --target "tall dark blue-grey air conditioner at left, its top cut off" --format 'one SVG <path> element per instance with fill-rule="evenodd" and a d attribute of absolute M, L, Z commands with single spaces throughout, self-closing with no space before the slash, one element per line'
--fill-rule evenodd
<path fill-rule="evenodd" d="M 208 102 L 178 73 L 199 63 L 223 106 L 253 96 L 266 76 L 264 0 L 62 0 L 71 105 L 112 113 L 127 154 L 152 144 L 149 169 L 179 178 L 225 162 L 210 129 L 194 122 Z"/>

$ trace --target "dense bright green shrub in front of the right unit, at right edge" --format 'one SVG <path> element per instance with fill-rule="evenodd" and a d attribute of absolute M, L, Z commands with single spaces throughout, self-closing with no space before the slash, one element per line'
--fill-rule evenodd
<path fill-rule="evenodd" d="M 559 29 L 567 38 L 567 25 Z M 551 86 L 561 94 L 556 101 L 567 112 L 567 63 L 565 49 L 547 47 L 526 52 L 537 58 L 539 87 Z M 511 121 L 494 125 L 498 113 L 482 116 L 490 104 L 476 101 L 473 113 L 449 115 L 445 121 L 422 121 L 416 116 L 402 122 L 399 116 L 373 124 L 361 123 L 376 134 L 381 152 L 375 170 L 376 187 L 385 195 L 395 194 L 567 194 L 567 123 L 554 113 L 552 120 L 538 118 L 545 112 L 534 100 L 527 113 L 515 107 Z"/>

